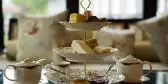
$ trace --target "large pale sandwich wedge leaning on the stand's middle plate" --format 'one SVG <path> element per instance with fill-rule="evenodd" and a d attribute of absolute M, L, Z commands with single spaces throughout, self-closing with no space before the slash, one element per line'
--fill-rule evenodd
<path fill-rule="evenodd" d="M 94 51 L 82 40 L 73 40 L 71 47 L 80 54 L 94 54 Z"/>

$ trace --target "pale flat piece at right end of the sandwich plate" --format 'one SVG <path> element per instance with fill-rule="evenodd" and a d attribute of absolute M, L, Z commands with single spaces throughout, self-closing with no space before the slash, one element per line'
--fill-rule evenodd
<path fill-rule="evenodd" d="M 97 46 L 93 49 L 97 54 L 110 53 L 110 47 Z"/>

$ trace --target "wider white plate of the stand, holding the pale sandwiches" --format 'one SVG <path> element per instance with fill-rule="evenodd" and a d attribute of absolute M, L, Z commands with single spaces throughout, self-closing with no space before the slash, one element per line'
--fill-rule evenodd
<path fill-rule="evenodd" d="M 68 61 L 72 62 L 100 62 L 103 61 L 105 57 L 113 55 L 118 51 L 116 48 L 112 48 L 110 53 L 104 54 L 77 54 L 77 53 L 68 53 L 64 51 L 63 48 L 55 48 L 53 51 L 63 57 Z"/>

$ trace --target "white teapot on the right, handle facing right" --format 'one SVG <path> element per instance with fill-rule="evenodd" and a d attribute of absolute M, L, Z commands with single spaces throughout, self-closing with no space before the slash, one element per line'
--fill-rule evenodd
<path fill-rule="evenodd" d="M 143 65 L 149 64 L 149 72 L 143 75 Z M 117 72 L 125 76 L 124 82 L 140 82 L 141 77 L 148 75 L 152 71 L 152 65 L 148 61 L 141 61 L 129 55 L 116 62 Z"/>

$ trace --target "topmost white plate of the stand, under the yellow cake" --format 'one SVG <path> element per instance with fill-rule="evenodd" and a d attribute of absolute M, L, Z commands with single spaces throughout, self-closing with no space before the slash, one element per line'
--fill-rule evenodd
<path fill-rule="evenodd" d="M 59 22 L 71 29 L 77 30 L 100 30 L 102 27 L 110 24 L 110 22 L 80 22 L 80 23 L 69 23 Z"/>

